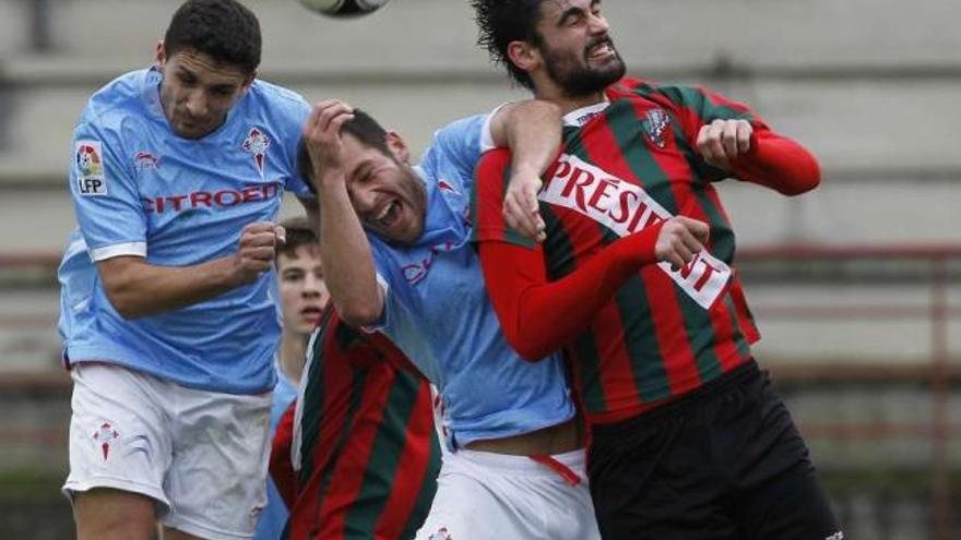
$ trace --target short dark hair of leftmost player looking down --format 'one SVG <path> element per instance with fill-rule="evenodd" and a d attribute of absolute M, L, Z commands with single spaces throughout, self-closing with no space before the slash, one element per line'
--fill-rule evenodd
<path fill-rule="evenodd" d="M 252 74 L 260 65 L 260 23 L 236 0 L 188 0 L 164 35 L 167 58 L 190 50 Z"/>

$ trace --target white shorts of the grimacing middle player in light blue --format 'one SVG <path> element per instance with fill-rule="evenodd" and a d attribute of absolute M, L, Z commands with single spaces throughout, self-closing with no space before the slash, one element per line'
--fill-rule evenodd
<path fill-rule="evenodd" d="M 417 540 L 600 540 L 584 451 L 553 456 L 571 485 L 524 456 L 460 449 L 443 456 L 437 493 Z"/>

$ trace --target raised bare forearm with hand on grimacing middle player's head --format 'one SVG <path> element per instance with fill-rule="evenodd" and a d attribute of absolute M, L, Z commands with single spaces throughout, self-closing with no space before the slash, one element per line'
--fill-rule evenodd
<path fill-rule="evenodd" d="M 351 205 L 341 163 L 341 127 L 354 118 L 342 101 L 321 101 L 304 125 L 304 142 L 312 163 L 320 213 L 320 259 L 331 300 L 352 326 L 375 324 L 384 309 L 373 254 L 360 218 Z"/>

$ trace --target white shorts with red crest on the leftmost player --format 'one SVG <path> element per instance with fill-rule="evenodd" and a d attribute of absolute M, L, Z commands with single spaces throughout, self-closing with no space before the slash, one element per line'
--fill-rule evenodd
<path fill-rule="evenodd" d="M 155 500 L 167 527 L 253 537 L 266 502 L 271 393 L 191 389 L 106 363 L 74 364 L 71 375 L 71 500 L 114 488 Z"/>

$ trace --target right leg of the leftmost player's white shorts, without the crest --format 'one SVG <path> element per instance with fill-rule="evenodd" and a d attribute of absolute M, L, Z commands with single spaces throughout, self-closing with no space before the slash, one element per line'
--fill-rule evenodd
<path fill-rule="evenodd" d="M 205 539 L 253 536 L 266 503 L 271 395 L 177 387 L 166 527 Z"/>

